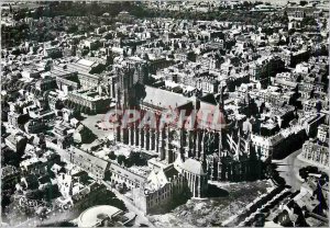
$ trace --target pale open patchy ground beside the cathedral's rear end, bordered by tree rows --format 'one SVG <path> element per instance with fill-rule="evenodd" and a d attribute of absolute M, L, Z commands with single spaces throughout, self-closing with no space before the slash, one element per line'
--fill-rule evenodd
<path fill-rule="evenodd" d="M 194 226 L 220 226 L 222 221 L 238 214 L 256 197 L 273 187 L 271 181 L 219 183 L 218 195 L 205 200 L 189 200 L 186 204 L 164 215 L 151 215 L 150 220 L 156 227 L 191 227 Z"/>

